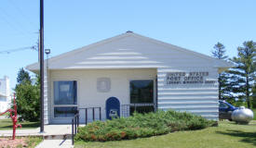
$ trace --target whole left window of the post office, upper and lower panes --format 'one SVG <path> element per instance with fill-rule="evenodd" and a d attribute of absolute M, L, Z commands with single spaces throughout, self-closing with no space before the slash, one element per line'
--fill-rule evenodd
<path fill-rule="evenodd" d="M 73 117 L 77 110 L 77 82 L 54 81 L 54 117 Z"/>

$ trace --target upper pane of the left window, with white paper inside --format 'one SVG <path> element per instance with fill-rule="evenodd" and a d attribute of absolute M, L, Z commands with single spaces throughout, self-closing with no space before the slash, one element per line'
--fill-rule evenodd
<path fill-rule="evenodd" d="M 76 81 L 54 81 L 54 105 L 77 105 Z"/>

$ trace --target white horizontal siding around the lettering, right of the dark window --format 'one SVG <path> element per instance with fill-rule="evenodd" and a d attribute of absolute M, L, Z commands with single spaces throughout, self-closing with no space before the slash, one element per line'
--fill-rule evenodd
<path fill-rule="evenodd" d="M 167 72 L 208 71 L 208 80 L 218 80 L 217 68 L 158 68 L 158 109 L 190 112 L 208 119 L 218 120 L 218 83 L 165 84 Z"/>

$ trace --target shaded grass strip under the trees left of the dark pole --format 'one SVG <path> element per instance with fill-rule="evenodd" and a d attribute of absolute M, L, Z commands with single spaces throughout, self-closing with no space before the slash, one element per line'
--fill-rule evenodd
<path fill-rule="evenodd" d="M 29 122 L 29 121 L 22 121 L 22 122 L 18 121 L 18 124 L 21 124 L 22 126 L 21 129 L 35 129 L 40 126 L 39 122 Z M 12 129 L 11 118 L 0 119 L 0 130 L 3 130 L 3 129 Z"/>

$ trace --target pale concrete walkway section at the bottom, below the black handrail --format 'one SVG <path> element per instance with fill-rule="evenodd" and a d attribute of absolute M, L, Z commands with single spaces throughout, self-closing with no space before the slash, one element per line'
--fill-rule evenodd
<path fill-rule="evenodd" d="M 71 140 L 44 140 L 35 148 L 73 148 Z"/>

